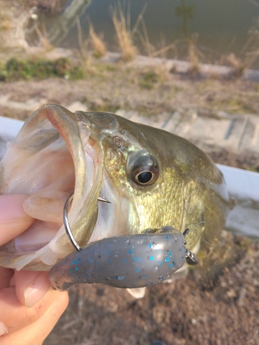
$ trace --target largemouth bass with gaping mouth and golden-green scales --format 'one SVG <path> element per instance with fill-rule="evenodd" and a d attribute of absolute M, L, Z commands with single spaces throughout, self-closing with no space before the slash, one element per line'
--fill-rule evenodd
<path fill-rule="evenodd" d="M 75 251 L 62 218 L 71 194 L 70 227 L 81 247 L 171 226 L 191 228 L 186 248 L 198 253 L 202 238 L 224 228 L 229 205 L 222 173 L 186 139 L 54 104 L 41 106 L 8 142 L 0 194 L 28 195 L 23 209 L 35 221 L 0 248 L 1 266 L 27 270 L 49 270 Z"/>

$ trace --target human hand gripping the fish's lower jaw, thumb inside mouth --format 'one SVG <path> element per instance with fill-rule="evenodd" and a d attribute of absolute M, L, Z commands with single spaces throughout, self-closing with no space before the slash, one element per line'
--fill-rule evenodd
<path fill-rule="evenodd" d="M 23 233 L 33 218 L 23 210 L 27 195 L 0 195 L 0 246 Z M 0 266 L 0 344 L 39 345 L 68 305 L 68 293 L 50 286 L 48 272 Z"/>

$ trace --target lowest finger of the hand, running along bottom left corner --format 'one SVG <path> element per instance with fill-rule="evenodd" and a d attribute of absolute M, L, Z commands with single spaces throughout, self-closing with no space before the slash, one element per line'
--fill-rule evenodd
<path fill-rule="evenodd" d="M 59 293 L 58 297 L 47 309 L 47 311 L 36 322 L 22 328 L 12 334 L 0 337 L 1 345 L 41 345 L 44 339 L 52 331 L 59 317 L 68 306 L 68 294 Z"/>

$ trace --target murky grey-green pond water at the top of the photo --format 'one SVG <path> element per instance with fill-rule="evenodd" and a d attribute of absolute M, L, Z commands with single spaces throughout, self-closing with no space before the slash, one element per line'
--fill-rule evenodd
<path fill-rule="evenodd" d="M 131 28 L 144 8 L 143 21 L 149 41 L 159 49 L 162 45 L 178 42 L 177 52 L 168 52 L 169 57 L 182 58 L 186 40 L 195 34 L 195 43 L 204 54 L 206 62 L 215 62 L 230 52 L 244 56 L 259 46 L 259 39 L 251 39 L 252 28 L 257 28 L 259 0 L 131 0 L 121 2 L 122 7 L 131 14 Z M 84 37 L 88 36 L 88 18 L 97 33 L 104 34 L 109 50 L 117 50 L 115 30 L 111 19 L 111 6 L 118 0 L 69 0 L 64 10 L 52 17 L 41 16 L 48 31 L 48 39 L 55 46 L 78 48 L 76 18 L 79 17 Z M 37 23 L 39 25 L 39 23 Z M 37 39 L 31 28 L 28 32 L 30 42 Z M 145 53 L 140 34 L 142 23 L 135 34 L 138 50 Z M 162 39 L 163 38 L 163 39 Z M 164 43 L 162 43 L 164 41 Z"/>

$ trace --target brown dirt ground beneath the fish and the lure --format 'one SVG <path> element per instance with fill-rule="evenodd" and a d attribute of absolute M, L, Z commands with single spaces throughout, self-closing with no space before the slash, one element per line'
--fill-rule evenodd
<path fill-rule="evenodd" d="M 210 286 L 195 269 L 173 284 L 148 288 L 143 299 L 98 284 L 72 288 L 68 309 L 44 345 L 258 344 L 258 243 L 245 254 L 242 241 L 238 246 L 240 259 Z"/>

